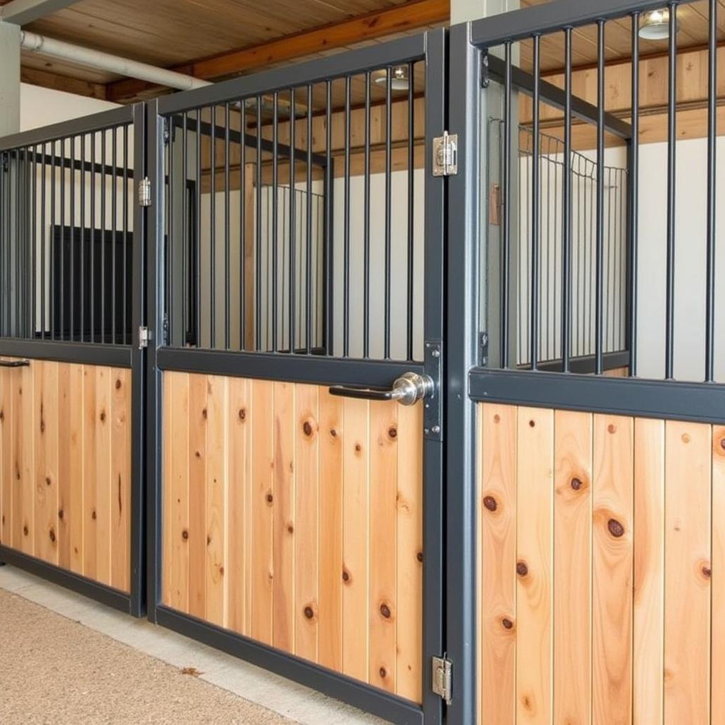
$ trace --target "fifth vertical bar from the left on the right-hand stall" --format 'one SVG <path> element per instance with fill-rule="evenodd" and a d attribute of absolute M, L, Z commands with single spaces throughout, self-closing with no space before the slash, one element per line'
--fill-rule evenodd
<path fill-rule="evenodd" d="M 715 0 L 717 1 L 717 0 Z M 639 12 L 632 14 L 631 129 L 629 142 L 629 374 L 637 376 L 637 276 L 639 275 Z"/>

